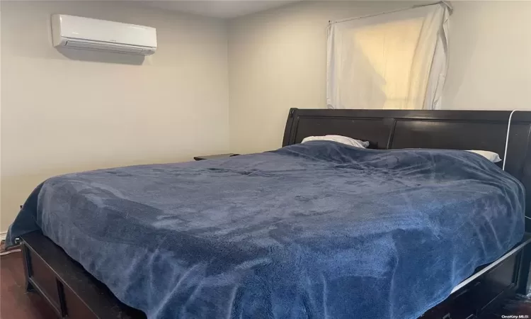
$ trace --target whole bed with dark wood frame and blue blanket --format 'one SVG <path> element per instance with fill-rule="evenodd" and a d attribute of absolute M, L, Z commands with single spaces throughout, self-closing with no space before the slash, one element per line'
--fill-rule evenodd
<path fill-rule="evenodd" d="M 11 236 L 63 317 L 474 318 L 527 282 L 531 112 L 513 115 L 509 174 L 452 150 L 503 155 L 508 117 L 292 109 L 277 151 L 50 179 Z M 327 134 L 372 150 L 299 144 Z"/>

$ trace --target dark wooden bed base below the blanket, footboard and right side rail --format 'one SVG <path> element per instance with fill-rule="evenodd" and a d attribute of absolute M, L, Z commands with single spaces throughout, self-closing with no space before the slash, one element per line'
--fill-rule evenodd
<path fill-rule="evenodd" d="M 22 243 L 27 289 L 40 293 L 59 318 L 146 318 L 142 311 L 121 303 L 105 285 L 41 233 L 23 235 Z M 517 288 L 525 289 L 527 268 L 522 265 L 530 262 L 530 253 L 531 245 L 519 247 L 421 318 L 473 319 L 498 306 Z"/>

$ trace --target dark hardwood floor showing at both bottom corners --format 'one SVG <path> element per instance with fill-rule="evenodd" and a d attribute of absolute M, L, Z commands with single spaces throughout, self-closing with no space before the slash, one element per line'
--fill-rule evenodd
<path fill-rule="evenodd" d="M 0 318 L 1 319 L 56 319 L 57 316 L 38 293 L 25 292 L 22 253 L 13 252 L 0 257 Z M 480 319 L 501 319 L 519 315 L 531 319 L 531 298 L 515 296 Z M 75 319 L 75 318 L 74 318 Z"/>

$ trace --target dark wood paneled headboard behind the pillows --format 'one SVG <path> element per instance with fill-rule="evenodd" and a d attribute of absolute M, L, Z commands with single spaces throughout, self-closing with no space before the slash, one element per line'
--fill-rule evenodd
<path fill-rule="evenodd" d="M 402 111 L 290 109 L 282 146 L 312 135 L 368 140 L 370 148 L 489 150 L 502 157 L 510 111 Z M 510 124 L 506 171 L 525 186 L 531 217 L 531 111 L 517 111 Z M 503 159 L 505 160 L 505 159 Z M 531 220 L 526 218 L 526 231 Z"/>

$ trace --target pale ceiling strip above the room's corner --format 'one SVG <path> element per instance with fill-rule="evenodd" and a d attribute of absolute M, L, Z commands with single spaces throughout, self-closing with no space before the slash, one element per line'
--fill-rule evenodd
<path fill-rule="evenodd" d="M 195 13 L 215 18 L 236 18 L 273 9 L 299 0 L 188 0 L 148 1 L 147 5 L 164 10 Z"/>

